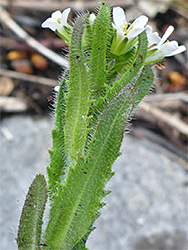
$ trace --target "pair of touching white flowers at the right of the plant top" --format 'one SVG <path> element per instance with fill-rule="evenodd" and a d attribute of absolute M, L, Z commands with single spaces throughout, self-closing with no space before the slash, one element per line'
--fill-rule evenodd
<path fill-rule="evenodd" d="M 117 55 L 123 54 L 135 45 L 137 36 L 146 31 L 148 39 L 148 56 L 146 63 L 153 63 L 163 60 L 165 57 L 174 56 L 186 50 L 184 45 L 179 46 L 176 41 L 168 42 L 168 37 L 174 31 L 173 26 L 169 26 L 162 38 L 157 32 L 152 32 L 152 27 L 147 25 L 146 16 L 138 17 L 134 22 L 126 21 L 126 16 L 122 8 L 113 8 L 113 27 L 116 29 L 116 36 L 113 39 L 111 52 Z M 126 42 L 124 42 L 126 41 Z M 124 48 L 122 48 L 124 43 Z"/>

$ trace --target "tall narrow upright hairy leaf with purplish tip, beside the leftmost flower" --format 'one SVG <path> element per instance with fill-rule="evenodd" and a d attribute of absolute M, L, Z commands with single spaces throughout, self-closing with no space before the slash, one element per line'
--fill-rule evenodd
<path fill-rule="evenodd" d="M 89 122 L 87 115 L 91 105 L 89 80 L 81 50 L 81 35 L 87 17 L 88 14 L 84 14 L 77 19 L 70 47 L 70 77 L 67 84 L 64 136 L 65 154 L 68 164 L 72 166 L 77 157 L 84 154 Z"/>

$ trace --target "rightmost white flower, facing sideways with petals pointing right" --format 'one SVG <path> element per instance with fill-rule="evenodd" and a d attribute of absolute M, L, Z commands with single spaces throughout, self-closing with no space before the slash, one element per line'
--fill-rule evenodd
<path fill-rule="evenodd" d="M 173 31 L 174 27 L 169 26 L 162 38 L 160 38 L 157 32 L 152 33 L 150 26 L 146 27 L 148 38 L 148 56 L 145 60 L 146 63 L 161 61 L 165 57 L 174 56 L 186 50 L 184 45 L 179 46 L 176 41 L 167 41 Z"/>

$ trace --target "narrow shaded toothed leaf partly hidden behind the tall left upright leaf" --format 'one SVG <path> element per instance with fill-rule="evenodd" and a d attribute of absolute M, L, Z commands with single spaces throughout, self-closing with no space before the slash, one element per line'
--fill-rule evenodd
<path fill-rule="evenodd" d="M 66 157 L 64 152 L 64 132 L 65 125 L 65 82 L 66 76 L 60 86 L 55 109 L 55 128 L 52 130 L 52 150 L 50 154 L 50 166 L 48 172 L 48 192 L 52 198 L 57 191 L 57 183 L 64 183 L 67 173 Z"/>

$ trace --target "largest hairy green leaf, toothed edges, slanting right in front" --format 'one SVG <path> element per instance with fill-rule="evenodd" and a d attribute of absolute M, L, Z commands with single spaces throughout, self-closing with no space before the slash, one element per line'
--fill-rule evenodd
<path fill-rule="evenodd" d="M 89 153 L 70 168 L 65 185 L 54 200 L 45 242 L 48 249 L 71 250 L 88 233 L 104 205 L 101 199 L 111 178 L 111 165 L 119 156 L 119 148 L 129 112 L 134 105 L 133 92 L 126 90 L 108 105 L 98 122 Z"/>

